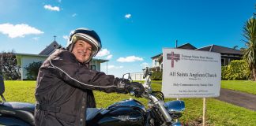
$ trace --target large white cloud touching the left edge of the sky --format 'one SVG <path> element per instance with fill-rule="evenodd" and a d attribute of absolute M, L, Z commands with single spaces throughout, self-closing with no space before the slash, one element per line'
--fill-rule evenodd
<path fill-rule="evenodd" d="M 0 24 L 0 33 L 8 35 L 10 38 L 24 37 L 31 34 L 43 34 L 36 28 L 29 26 L 28 24 Z"/>

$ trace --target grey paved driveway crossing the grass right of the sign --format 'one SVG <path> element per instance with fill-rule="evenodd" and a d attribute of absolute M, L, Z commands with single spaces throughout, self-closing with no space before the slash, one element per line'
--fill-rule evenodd
<path fill-rule="evenodd" d="M 256 95 L 221 88 L 220 97 L 216 99 L 256 111 Z"/>

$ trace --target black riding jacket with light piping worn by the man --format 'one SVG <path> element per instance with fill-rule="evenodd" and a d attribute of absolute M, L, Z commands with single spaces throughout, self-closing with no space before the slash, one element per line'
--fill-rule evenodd
<path fill-rule="evenodd" d="M 67 50 L 56 50 L 36 82 L 36 125 L 85 125 L 85 109 L 96 107 L 92 90 L 120 90 L 119 79 L 88 69 Z M 122 89 L 122 88 L 121 88 Z"/>

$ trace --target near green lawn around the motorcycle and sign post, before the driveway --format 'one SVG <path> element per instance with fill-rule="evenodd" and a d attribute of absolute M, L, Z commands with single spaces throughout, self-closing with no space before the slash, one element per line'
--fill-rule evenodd
<path fill-rule="evenodd" d="M 36 81 L 5 81 L 6 83 L 6 101 L 35 102 L 34 92 Z M 160 91 L 161 85 L 152 82 L 152 89 Z M 255 91 L 255 90 L 254 90 Z M 100 91 L 94 91 L 97 107 L 107 107 L 114 102 L 130 98 L 130 95 L 106 94 Z M 134 98 L 134 97 L 132 97 Z M 136 98 L 144 105 L 147 101 L 144 98 Z M 166 98 L 165 101 L 174 100 Z M 201 121 L 202 116 L 202 98 L 183 98 L 186 104 L 186 110 L 183 113 L 181 121 L 185 124 L 197 120 Z M 207 125 L 216 126 L 240 126 L 256 125 L 256 112 L 244 109 L 239 106 L 233 106 L 226 102 L 220 102 L 214 98 L 207 98 Z"/>

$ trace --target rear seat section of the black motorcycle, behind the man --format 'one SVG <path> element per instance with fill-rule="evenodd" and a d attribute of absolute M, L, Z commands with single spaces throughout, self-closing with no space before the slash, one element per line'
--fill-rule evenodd
<path fill-rule="evenodd" d="M 16 117 L 28 124 L 35 125 L 35 105 L 24 102 L 2 102 L 0 103 L 0 115 Z"/>

